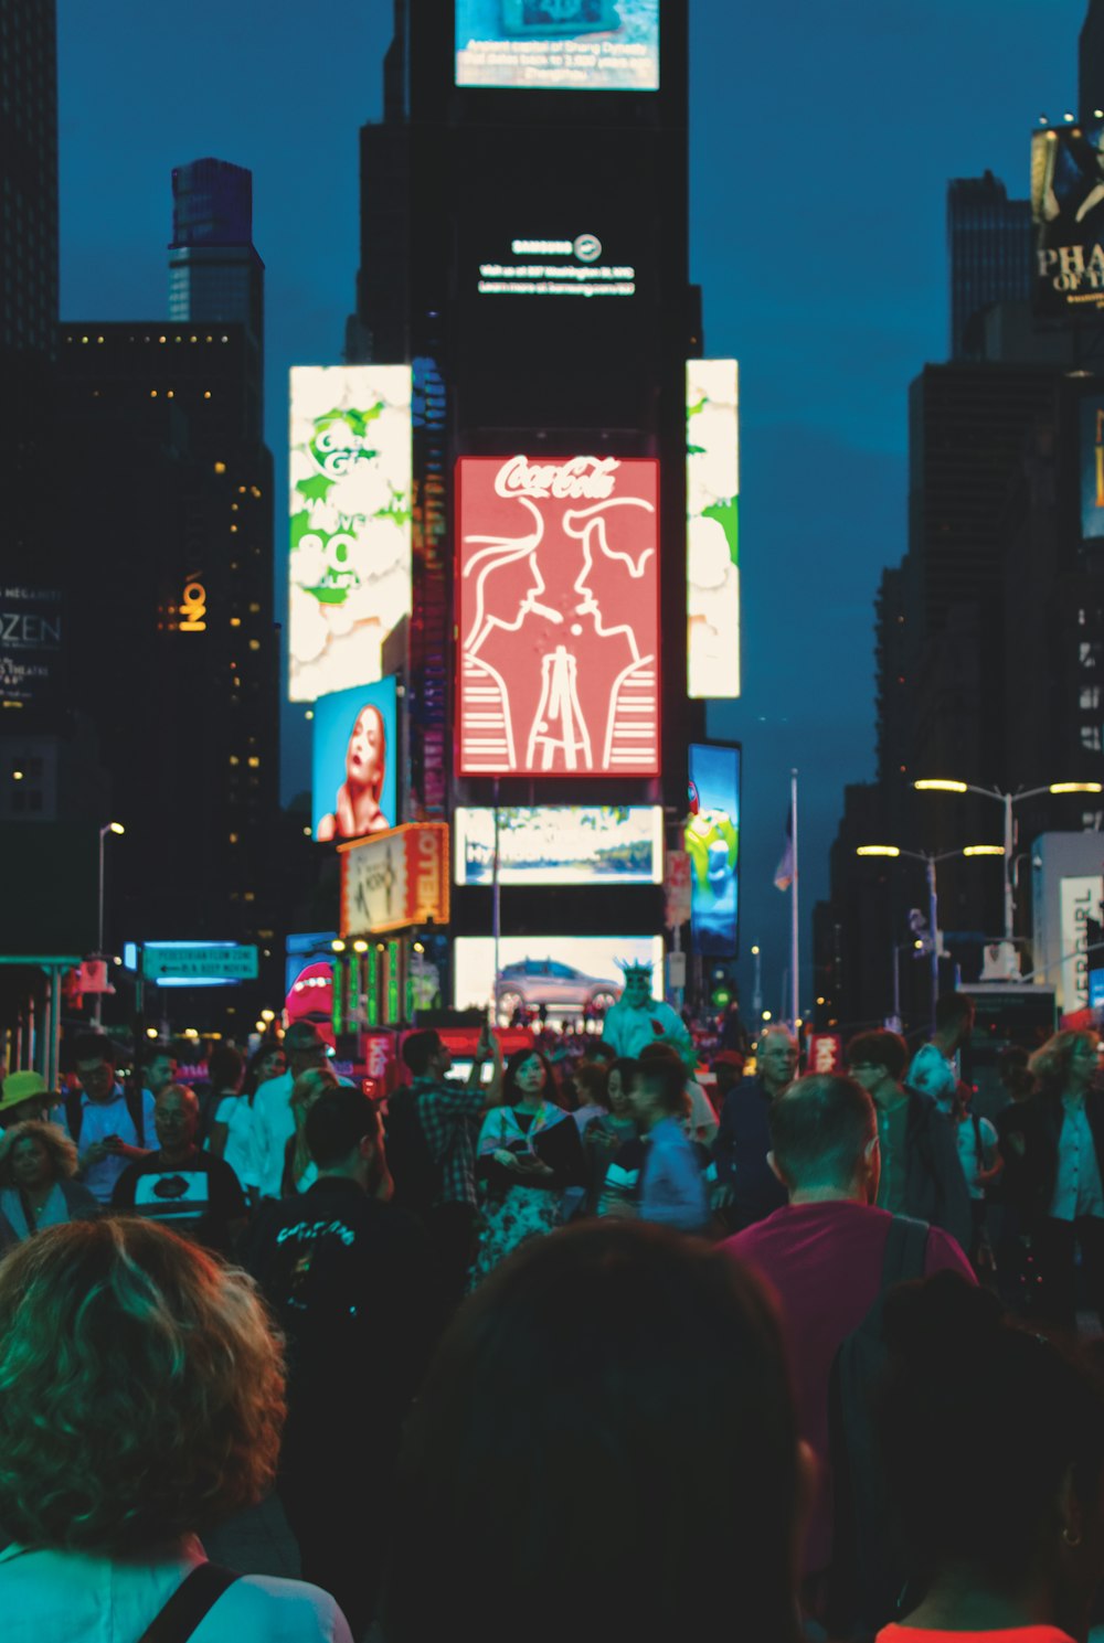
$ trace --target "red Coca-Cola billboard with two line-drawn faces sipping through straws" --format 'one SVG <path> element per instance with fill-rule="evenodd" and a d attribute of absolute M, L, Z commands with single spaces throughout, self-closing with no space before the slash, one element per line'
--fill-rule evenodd
<path fill-rule="evenodd" d="M 659 463 L 457 463 L 462 775 L 659 774 Z"/>

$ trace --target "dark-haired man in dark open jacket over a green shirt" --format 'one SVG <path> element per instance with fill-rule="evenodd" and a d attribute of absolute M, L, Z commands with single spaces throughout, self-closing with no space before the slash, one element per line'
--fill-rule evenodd
<path fill-rule="evenodd" d="M 928 1221 L 968 1250 L 973 1211 L 958 1134 L 930 1096 L 902 1088 L 900 1076 L 908 1063 L 905 1040 L 895 1032 L 861 1032 L 848 1043 L 846 1060 L 848 1071 L 877 1112 L 879 1208 Z"/>

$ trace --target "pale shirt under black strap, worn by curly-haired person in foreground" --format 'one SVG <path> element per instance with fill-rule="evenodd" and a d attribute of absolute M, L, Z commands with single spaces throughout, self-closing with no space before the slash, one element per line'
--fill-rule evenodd
<path fill-rule="evenodd" d="M 3 1643 L 135 1643 L 204 1562 L 194 1535 L 158 1561 L 62 1551 L 0 1553 Z M 332 1597 L 302 1581 L 243 1576 L 192 1631 L 194 1643 L 352 1643 Z"/>

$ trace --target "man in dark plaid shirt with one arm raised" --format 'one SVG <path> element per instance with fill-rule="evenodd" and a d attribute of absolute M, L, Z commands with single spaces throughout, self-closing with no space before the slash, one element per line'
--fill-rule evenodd
<path fill-rule="evenodd" d="M 485 1025 L 467 1084 L 448 1079 L 452 1055 L 440 1033 L 432 1029 L 404 1038 L 402 1060 L 412 1075 L 412 1084 L 409 1091 L 396 1091 L 388 1102 L 389 1122 L 391 1116 L 398 1121 L 404 1106 L 409 1106 L 429 1148 L 434 1180 L 426 1226 L 437 1255 L 445 1301 L 455 1305 L 463 1295 L 475 1254 L 475 1150 L 480 1122 L 486 1109 L 503 1099 L 503 1055 L 498 1035 Z M 494 1063 L 494 1076 L 485 1089 L 481 1078 L 488 1060 Z"/>

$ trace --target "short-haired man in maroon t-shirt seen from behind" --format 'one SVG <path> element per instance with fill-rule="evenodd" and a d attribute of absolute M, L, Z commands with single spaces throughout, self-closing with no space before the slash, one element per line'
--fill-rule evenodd
<path fill-rule="evenodd" d="M 853 1079 L 798 1078 L 769 1114 L 770 1168 L 790 1194 L 784 1209 L 724 1242 L 775 1288 L 790 1342 L 802 1438 L 820 1461 L 805 1541 L 807 1576 L 831 1556 L 828 1380 L 833 1359 L 882 1285 L 892 1216 L 874 1208 L 879 1152 L 874 1102 Z M 928 1229 L 925 1277 L 950 1268 L 974 1282 L 948 1232 Z"/>

